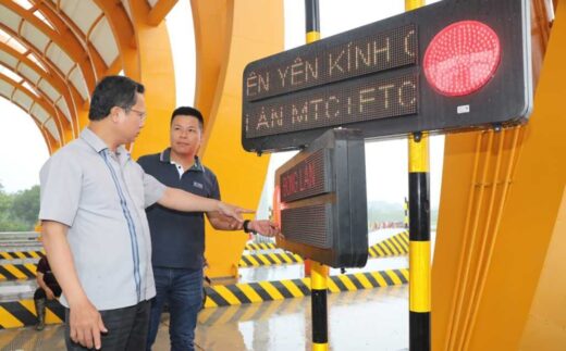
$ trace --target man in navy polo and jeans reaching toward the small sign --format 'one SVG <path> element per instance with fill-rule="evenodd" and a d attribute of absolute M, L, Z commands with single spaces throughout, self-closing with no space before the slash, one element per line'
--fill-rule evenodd
<path fill-rule="evenodd" d="M 165 186 L 220 200 L 217 177 L 197 156 L 202 137 L 201 113 L 182 106 L 171 116 L 171 147 L 161 153 L 142 156 L 139 165 Z M 171 311 L 171 350 L 194 350 L 197 313 L 202 302 L 205 218 L 202 212 L 177 212 L 155 204 L 146 210 L 151 233 L 152 264 L 157 296 L 151 303 L 148 350 L 156 340 L 163 302 Z M 269 221 L 238 223 L 207 212 L 210 224 L 220 230 L 279 233 Z"/>

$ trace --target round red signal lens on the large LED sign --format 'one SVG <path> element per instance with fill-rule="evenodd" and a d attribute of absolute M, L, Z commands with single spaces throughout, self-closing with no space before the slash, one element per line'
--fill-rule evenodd
<path fill-rule="evenodd" d="M 422 66 L 429 84 L 448 97 L 469 95 L 493 77 L 501 60 L 500 38 L 477 21 L 451 24 L 432 38 Z"/>

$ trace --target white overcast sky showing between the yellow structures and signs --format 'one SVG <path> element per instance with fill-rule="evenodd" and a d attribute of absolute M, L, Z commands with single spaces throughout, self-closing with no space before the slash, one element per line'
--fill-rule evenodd
<path fill-rule="evenodd" d="M 430 1 L 429 1 L 430 2 Z M 305 1 L 285 0 L 285 48 L 305 43 Z M 347 3 L 347 5 L 345 5 Z M 320 0 L 321 37 L 329 37 L 403 12 L 404 0 Z M 187 21 L 188 18 L 188 21 Z M 180 0 L 169 14 L 177 87 L 177 105 L 193 104 L 195 91 L 194 39 L 188 0 Z M 188 77 L 188 78 L 187 78 Z M 440 196 L 443 138 L 431 138 L 431 202 Z M 38 172 L 48 158 L 36 125 L 19 108 L 0 98 L 0 183 L 9 192 L 38 184 Z M 268 179 L 290 158 L 272 158 Z M 406 139 L 368 142 L 366 147 L 368 200 L 401 202 L 407 196 Z M 270 186 L 268 186 L 270 188 Z M 270 191 L 268 190 L 268 193 Z M 271 195 L 268 196 L 271 198 Z"/>

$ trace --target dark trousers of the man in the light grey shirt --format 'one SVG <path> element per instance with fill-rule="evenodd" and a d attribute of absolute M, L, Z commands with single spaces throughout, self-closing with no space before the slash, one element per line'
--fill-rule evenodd
<path fill-rule="evenodd" d="M 100 311 L 102 322 L 108 329 L 101 335 L 104 351 L 144 351 L 147 342 L 150 302 L 142 301 L 136 305 Z M 65 344 L 67 350 L 88 350 L 70 338 L 69 309 L 65 309 Z"/>

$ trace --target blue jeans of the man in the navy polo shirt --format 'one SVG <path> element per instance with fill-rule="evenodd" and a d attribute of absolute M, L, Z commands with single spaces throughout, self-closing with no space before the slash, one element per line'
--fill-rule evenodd
<path fill-rule="evenodd" d="M 202 304 L 202 269 L 153 267 L 157 296 L 151 300 L 147 350 L 156 341 L 163 302 L 169 302 L 171 351 L 193 351 L 197 314 Z"/>

